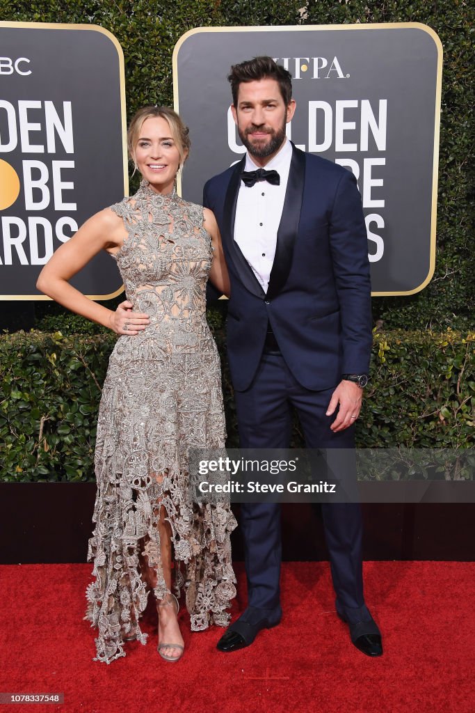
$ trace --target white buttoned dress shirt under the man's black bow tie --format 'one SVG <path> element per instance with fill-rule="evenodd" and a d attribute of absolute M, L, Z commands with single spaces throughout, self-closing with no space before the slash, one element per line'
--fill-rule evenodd
<path fill-rule="evenodd" d="M 251 265 L 264 292 L 267 292 L 273 259 L 276 255 L 277 231 L 286 197 L 291 159 L 292 145 L 286 139 L 278 153 L 263 167 L 268 171 L 278 172 L 281 177 L 279 185 L 259 181 L 248 188 L 242 180 L 239 185 L 234 240 Z M 258 168 L 261 166 L 256 165 L 247 153 L 244 170 L 255 171 Z"/>

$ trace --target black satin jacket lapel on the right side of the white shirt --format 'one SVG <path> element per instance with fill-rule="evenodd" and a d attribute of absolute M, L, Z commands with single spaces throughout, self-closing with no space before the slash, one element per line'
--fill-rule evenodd
<path fill-rule="evenodd" d="M 283 202 L 281 224 L 277 231 L 276 255 L 273 259 L 267 297 L 275 297 L 286 284 L 291 269 L 293 245 L 300 221 L 303 184 L 305 183 L 305 153 L 293 147 L 291 168 L 288 173 L 286 198 Z"/>

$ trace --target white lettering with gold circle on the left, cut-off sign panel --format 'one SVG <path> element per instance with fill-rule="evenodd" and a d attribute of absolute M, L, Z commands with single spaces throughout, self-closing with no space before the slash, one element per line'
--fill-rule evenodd
<path fill-rule="evenodd" d="M 66 242 L 78 230 L 68 215 L 77 209 L 71 200 L 75 163 L 48 158 L 59 151 L 74 153 L 71 101 L 0 100 L 0 127 L 0 210 L 13 209 L 1 216 L 0 265 L 44 265 L 53 255 L 53 239 Z M 19 152 L 21 168 L 16 170 L 6 156 L 13 154 L 18 165 Z M 41 155 L 41 160 L 26 158 L 31 154 Z M 48 207 L 66 215 L 53 222 L 38 215 Z M 26 220 L 25 213 L 31 213 Z"/>

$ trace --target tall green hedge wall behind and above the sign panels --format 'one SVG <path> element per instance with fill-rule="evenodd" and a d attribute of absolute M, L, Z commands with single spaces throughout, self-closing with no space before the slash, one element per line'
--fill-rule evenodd
<path fill-rule="evenodd" d="M 111 31 L 125 56 L 127 113 L 145 103 L 172 104 L 172 52 L 198 26 L 422 22 L 444 46 L 439 162 L 437 261 L 432 282 L 412 297 L 379 297 L 375 319 L 385 329 L 466 331 L 473 327 L 475 251 L 474 130 L 470 123 L 475 66 L 466 0 L 0 0 L 0 19 L 93 23 Z M 134 179 L 135 180 L 135 179 Z M 132 183 L 132 188 L 135 187 Z M 48 303 L 38 304 L 38 316 Z"/>

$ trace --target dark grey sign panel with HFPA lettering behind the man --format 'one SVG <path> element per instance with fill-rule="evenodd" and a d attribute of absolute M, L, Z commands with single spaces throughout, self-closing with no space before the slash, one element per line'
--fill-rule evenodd
<path fill-rule="evenodd" d="M 442 44 L 423 24 L 214 27 L 174 50 L 175 106 L 191 128 L 184 198 L 241 158 L 229 111 L 231 64 L 267 54 L 293 77 L 288 136 L 353 170 L 373 294 L 411 294 L 435 265 Z"/>

